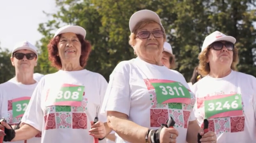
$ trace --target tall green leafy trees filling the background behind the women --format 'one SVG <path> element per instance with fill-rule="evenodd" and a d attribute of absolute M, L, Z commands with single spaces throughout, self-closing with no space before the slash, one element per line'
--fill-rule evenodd
<path fill-rule="evenodd" d="M 120 61 L 135 57 L 129 41 L 129 18 L 142 9 L 156 11 L 162 19 L 167 41 L 173 47 L 177 69 L 188 81 L 198 64 L 204 38 L 216 30 L 237 39 L 238 70 L 256 76 L 255 39 L 256 0 L 55 0 L 56 13 L 41 23 L 38 31 L 40 56 L 36 72 L 56 72 L 48 61 L 47 44 L 57 28 L 80 25 L 92 44 L 86 68 L 107 80 Z"/>

